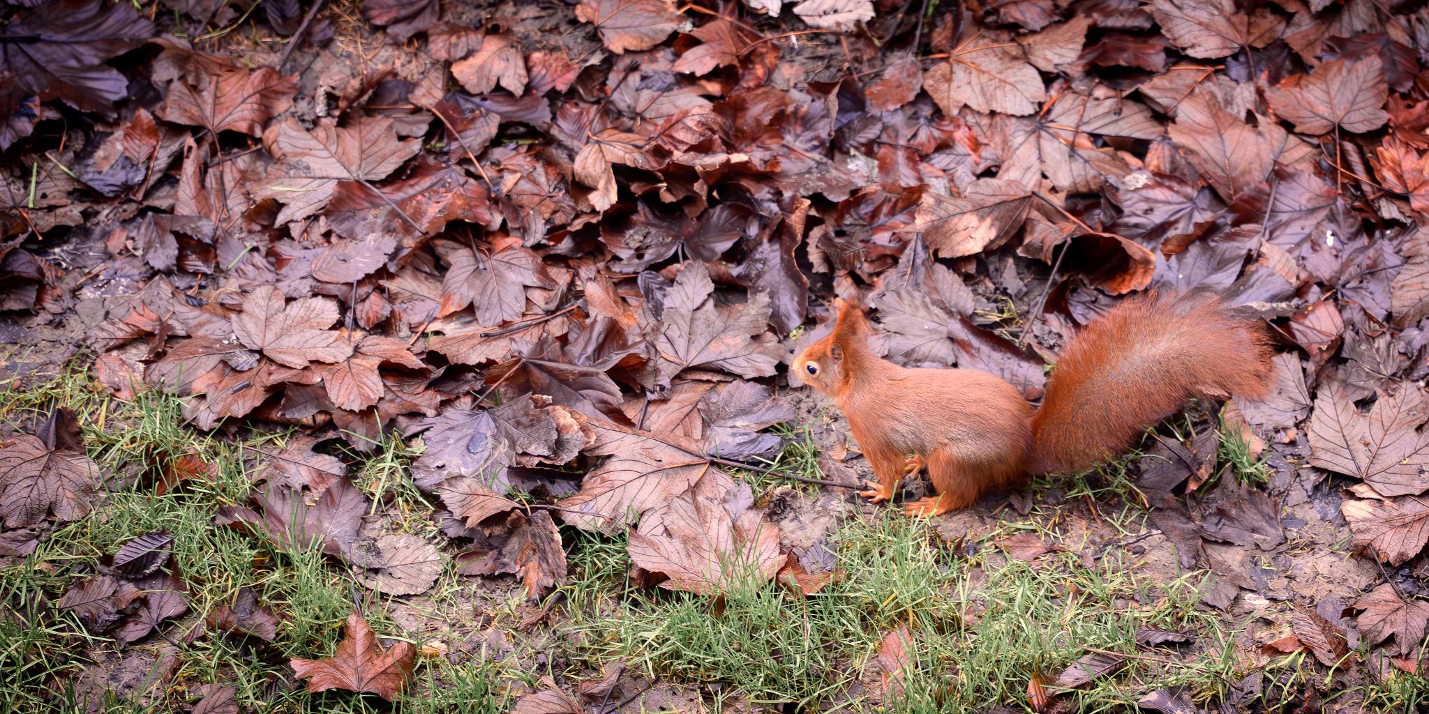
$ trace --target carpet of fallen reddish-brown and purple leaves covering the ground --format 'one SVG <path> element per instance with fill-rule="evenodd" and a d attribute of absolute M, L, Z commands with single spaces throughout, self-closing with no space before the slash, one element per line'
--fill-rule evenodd
<path fill-rule="evenodd" d="M 203 431 L 296 428 L 246 454 L 249 497 L 213 523 L 389 597 L 453 570 L 510 574 L 539 603 L 567 583 L 574 531 L 627 533 L 646 587 L 713 597 L 753 577 L 809 597 L 849 574 L 795 547 L 800 518 L 737 468 L 793 448 L 777 424 L 815 421 L 786 366 L 835 297 L 877 308 L 879 354 L 1036 400 L 1077 326 L 1132 293 L 1212 290 L 1282 336 L 1272 397 L 1222 413 L 1269 478 L 1239 483 L 1215 426 L 1163 428 L 1136 480 L 1156 553 L 1209 567 L 1200 597 L 1228 613 L 1293 601 L 1260 643 L 1276 651 L 1343 667 L 1363 637 L 1410 661 L 1425 613 L 1403 585 L 1429 543 L 1423 13 L 896 4 L 370 0 L 357 26 L 302 3 L 173 20 L 21 3 L 0 53 L 6 341 L 87 343 L 116 398 L 174 394 Z M 190 21 L 289 44 L 174 31 Z M 373 40 L 369 67 L 336 34 Z M 0 443 L 4 557 L 124 477 L 80 421 L 59 407 Z M 827 437 L 825 476 L 852 481 L 862 457 Z M 420 536 L 349 468 L 394 438 L 437 506 Z M 161 468 L 160 496 L 219 474 L 197 454 Z M 1332 577 L 1353 610 L 1298 575 L 1328 567 L 1296 560 L 1315 521 L 1358 553 Z M 57 600 L 117 644 L 177 635 L 194 607 L 176 534 L 133 536 Z M 996 544 L 1039 568 L 1077 555 L 1065 537 Z M 1379 561 L 1396 570 L 1376 581 Z M 273 641 L 283 618 L 260 600 L 239 587 L 186 637 Z M 885 691 L 916 641 L 902 633 Z M 1126 661 L 1039 673 L 1029 704 Z M 392 700 L 413 663 L 354 613 L 336 657 L 294 670 Z M 580 708 L 549 684 L 516 708 Z"/>

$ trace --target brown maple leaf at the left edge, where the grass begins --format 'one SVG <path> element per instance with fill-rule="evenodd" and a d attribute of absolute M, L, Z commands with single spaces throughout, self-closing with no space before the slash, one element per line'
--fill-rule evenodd
<path fill-rule="evenodd" d="M 79 418 L 59 407 L 39 434 L 20 434 L 0 448 L 0 516 L 10 528 L 37 526 L 51 510 L 60 521 L 81 518 L 94 504 L 99 481 L 99 464 L 84 456 Z"/>

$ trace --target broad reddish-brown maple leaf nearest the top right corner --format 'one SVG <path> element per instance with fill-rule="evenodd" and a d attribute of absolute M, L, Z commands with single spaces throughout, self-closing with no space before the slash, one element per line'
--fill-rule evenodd
<path fill-rule="evenodd" d="M 1293 74 L 1265 90 L 1270 109 L 1305 134 L 1325 134 L 1335 127 L 1353 134 L 1373 131 L 1389 121 L 1386 97 L 1389 86 L 1378 56 L 1356 63 L 1326 61 L 1315 74 Z"/>

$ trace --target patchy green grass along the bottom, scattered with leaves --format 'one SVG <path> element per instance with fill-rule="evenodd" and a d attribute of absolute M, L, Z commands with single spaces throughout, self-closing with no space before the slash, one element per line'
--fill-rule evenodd
<path fill-rule="evenodd" d="M 1077 543 L 1065 508 L 1046 503 L 1020 520 L 1003 511 L 990 531 L 957 544 L 945 543 L 926 521 L 887 510 L 853 518 L 830 545 L 843 577 L 807 598 L 749 578 L 719 598 L 640 590 L 629 578 L 624 536 L 563 527 L 570 577 L 552 630 L 519 631 L 517 623 L 532 614 L 522 597 L 480 600 L 482 581 L 462 578 L 449 567 L 432 593 L 404 607 L 420 605 L 424 617 L 456 633 L 412 633 L 393 620 L 392 598 L 364 588 L 339 563 L 313 550 L 277 548 L 260 537 L 211 526 L 219 506 L 247 500 L 243 457 L 252 463 L 253 448 L 272 451 L 289 434 L 240 431 L 237 441 L 220 433 L 197 434 L 181 424 L 176 398 L 147 393 L 134 404 L 119 403 L 79 370 L 49 386 L 6 393 L 0 417 L 29 424 L 56 404 L 80 411 L 90 456 L 123 478 L 110 484 L 96 514 L 56 528 L 34 554 L 0 568 L 0 701 L 7 711 L 83 708 L 64 683 L 90 665 L 87 651 L 113 651 L 114 644 L 87 633 L 73 614 L 53 604 L 87 577 L 97 558 L 160 527 L 174 533 L 176 565 L 191 584 L 194 613 L 252 587 L 280 613 L 283 624 L 272 644 L 217 634 L 183 644 L 193 620 L 166 623 L 163 634 L 179 643 L 173 680 L 156 698 L 113 698 L 104 711 L 177 711 L 196 701 L 199 685 L 231 683 L 247 711 L 496 714 L 507 711 L 522 691 L 543 688 L 544 675 L 573 691 L 577 681 L 599 677 L 600 668 L 619 657 L 626 658 L 626 673 L 642 674 L 644 681 L 659 677 L 700 691 L 712 711 L 737 701 L 759 707 L 793 703 L 805 711 L 960 713 L 993 704 L 1020 711 L 1035 674 L 1055 678 L 1092 647 L 1152 660 L 1127 660 L 1115 675 L 1060 695 L 1072 711 L 1132 713 L 1140 695 L 1167 685 L 1185 685 L 1199 705 L 1213 707 L 1252 671 L 1235 644 L 1245 637 L 1239 625 L 1199 604 L 1202 571 L 1153 581 L 1137 571 L 1140 563 L 1130 551 L 1110 548 L 1089 560 L 1083 553 L 1097 544 Z M 822 477 L 807 433 L 790 430 L 785 436 L 789 447 L 769 466 Z M 217 476 L 157 494 L 164 464 L 187 454 L 219 464 Z M 343 456 L 369 496 L 383 498 L 387 527 L 434 533 L 429 518 L 433 503 L 412 486 L 413 451 L 406 444 L 390 440 L 373 453 Z M 1133 537 L 1150 527 L 1129 476 L 1133 458 L 1062 480 L 1057 487 L 1067 498 L 1093 501 L 1106 526 Z M 1222 451 L 1220 458 L 1236 464 L 1238 456 Z M 753 471 L 745 476 L 759 494 L 790 483 Z M 812 493 L 807 484 L 796 486 Z M 1063 548 L 1036 563 L 1009 560 L 996 543 L 1015 533 L 1035 533 Z M 466 631 L 480 634 L 494 625 L 517 647 L 536 638 L 549 660 L 542 665 L 522 653 L 502 658 L 487 651 L 456 657 L 456 664 L 423 658 L 409 695 L 396 704 L 343 691 L 309 694 L 302 683 L 290 690 L 274 685 L 292 681 L 290 657 L 317 658 L 334 651 L 354 593 L 379 635 L 417 644 L 437 635 L 456 651 Z M 876 655 L 883 637 L 899 627 L 913 634 L 912 664 L 902 683 L 906 695 L 880 701 Z M 1135 644 L 1137 627 L 1193 633 L 1198 643 L 1147 651 Z M 151 637 L 131 647 L 164 645 L 161 637 Z M 1328 681 L 1323 668 L 1305 657 L 1272 661 L 1268 674 L 1265 698 L 1272 708 L 1298 701 L 1305 685 Z M 1272 678 L 1280 684 L 1270 685 Z M 1396 674 L 1340 697 L 1349 694 L 1376 711 L 1413 711 L 1429 700 L 1429 685 L 1425 678 Z"/>

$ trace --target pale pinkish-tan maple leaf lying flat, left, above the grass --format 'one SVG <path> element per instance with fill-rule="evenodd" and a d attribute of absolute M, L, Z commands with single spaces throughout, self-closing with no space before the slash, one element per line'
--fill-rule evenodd
<path fill-rule="evenodd" d="M 322 297 L 302 297 L 287 304 L 273 286 L 260 286 L 243 298 L 243 313 L 233 316 L 233 334 L 246 347 L 293 368 L 312 361 L 336 363 L 353 353 L 342 333 L 327 330 L 337 321 L 337 306 Z"/>

